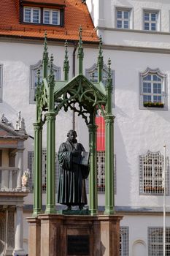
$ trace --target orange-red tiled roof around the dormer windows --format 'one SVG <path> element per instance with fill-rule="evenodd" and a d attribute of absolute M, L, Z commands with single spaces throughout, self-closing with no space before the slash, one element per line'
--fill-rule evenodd
<path fill-rule="evenodd" d="M 64 26 L 45 26 L 39 24 L 21 24 L 19 20 L 19 0 L 3 0 L 0 8 L 0 37 L 20 37 L 40 39 L 47 31 L 47 38 L 53 40 L 78 40 L 80 25 L 84 42 L 98 42 L 93 21 L 88 7 L 82 0 L 28 0 L 33 5 L 37 2 L 63 4 L 65 2 Z M 24 3 L 24 1 L 23 1 Z"/>

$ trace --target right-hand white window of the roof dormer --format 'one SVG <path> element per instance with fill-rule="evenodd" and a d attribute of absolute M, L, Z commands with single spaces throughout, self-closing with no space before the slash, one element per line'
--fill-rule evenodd
<path fill-rule="evenodd" d="M 43 23 L 50 25 L 60 25 L 60 11 L 44 9 Z"/>

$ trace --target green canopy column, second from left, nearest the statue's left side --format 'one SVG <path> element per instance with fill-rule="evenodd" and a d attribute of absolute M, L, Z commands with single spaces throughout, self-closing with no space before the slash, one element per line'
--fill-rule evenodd
<path fill-rule="evenodd" d="M 55 113 L 45 114 L 47 119 L 47 203 L 46 214 L 55 214 Z"/>

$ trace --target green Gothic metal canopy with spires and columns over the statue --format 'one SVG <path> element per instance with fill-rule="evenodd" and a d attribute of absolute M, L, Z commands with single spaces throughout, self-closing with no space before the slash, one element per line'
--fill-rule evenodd
<path fill-rule="evenodd" d="M 101 81 L 103 69 L 102 41 L 98 48 L 98 83 L 93 83 L 83 75 L 82 28 L 79 31 L 78 48 L 79 74 L 69 80 L 68 45 L 65 44 L 63 63 L 64 80 L 55 81 L 53 56 L 48 58 L 47 35 L 43 52 L 43 80 L 36 89 L 36 123 L 34 145 L 34 216 L 42 213 L 42 127 L 47 121 L 47 203 L 45 213 L 55 213 L 55 116 L 61 109 L 74 110 L 82 116 L 89 130 L 90 151 L 90 214 L 98 211 L 97 167 L 96 167 L 96 110 L 100 109 L 106 123 L 106 163 L 105 163 L 105 214 L 114 214 L 113 181 L 113 121 L 111 61 L 108 62 L 107 86 Z M 45 113 L 44 115 L 42 113 Z"/>

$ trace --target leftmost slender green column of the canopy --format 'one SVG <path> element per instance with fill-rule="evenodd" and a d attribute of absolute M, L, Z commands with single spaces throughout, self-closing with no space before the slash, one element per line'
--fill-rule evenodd
<path fill-rule="evenodd" d="M 42 123 L 34 123 L 34 213 L 42 213 Z"/>

